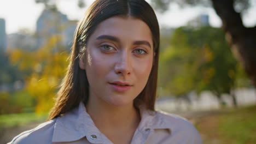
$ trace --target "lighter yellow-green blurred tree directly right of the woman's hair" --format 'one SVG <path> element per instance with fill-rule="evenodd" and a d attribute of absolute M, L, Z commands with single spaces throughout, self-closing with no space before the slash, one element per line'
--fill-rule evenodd
<path fill-rule="evenodd" d="M 195 49 L 191 49 L 188 45 L 188 35 L 182 31 L 182 28 L 177 28 L 172 35 L 171 46 L 160 52 L 159 87 L 162 88 L 160 95 L 171 93 L 182 97 L 193 91 L 196 70 L 192 70 L 195 68 L 191 64 L 195 55 L 191 54 L 195 53 L 194 51 Z"/>

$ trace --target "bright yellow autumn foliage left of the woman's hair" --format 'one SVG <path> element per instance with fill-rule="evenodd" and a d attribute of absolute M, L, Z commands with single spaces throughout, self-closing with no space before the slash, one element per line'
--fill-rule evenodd
<path fill-rule="evenodd" d="M 26 90 L 36 99 L 36 112 L 47 112 L 54 104 L 63 76 L 66 73 L 68 53 L 64 46 L 58 45 L 60 35 L 52 35 L 48 42 L 36 51 L 16 49 L 10 59 L 19 65 L 20 70 L 30 69 L 26 77 Z"/>

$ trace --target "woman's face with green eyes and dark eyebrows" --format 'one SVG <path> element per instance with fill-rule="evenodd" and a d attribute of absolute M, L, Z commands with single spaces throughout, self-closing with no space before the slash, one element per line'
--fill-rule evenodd
<path fill-rule="evenodd" d="M 89 101 L 132 104 L 146 86 L 153 64 L 152 34 L 145 22 L 110 17 L 97 26 L 80 59 L 89 81 Z"/>

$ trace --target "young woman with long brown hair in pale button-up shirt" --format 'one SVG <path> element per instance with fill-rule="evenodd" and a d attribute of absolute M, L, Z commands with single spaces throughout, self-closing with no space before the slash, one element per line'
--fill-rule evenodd
<path fill-rule="evenodd" d="M 95 1 L 78 24 L 48 122 L 10 143 L 202 143 L 187 120 L 155 111 L 158 57 L 147 2 Z"/>

